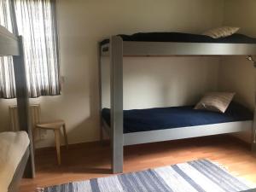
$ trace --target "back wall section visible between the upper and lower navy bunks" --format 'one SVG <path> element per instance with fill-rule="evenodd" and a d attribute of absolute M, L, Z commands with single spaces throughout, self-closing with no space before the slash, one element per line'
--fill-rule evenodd
<path fill-rule="evenodd" d="M 124 108 L 195 104 L 218 90 L 218 57 L 125 57 Z M 103 60 L 103 108 L 110 106 L 109 62 Z"/>

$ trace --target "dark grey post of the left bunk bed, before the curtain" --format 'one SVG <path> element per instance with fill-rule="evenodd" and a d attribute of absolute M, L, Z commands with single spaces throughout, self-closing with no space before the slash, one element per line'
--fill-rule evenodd
<path fill-rule="evenodd" d="M 19 37 L 20 55 L 14 56 L 15 90 L 19 116 L 20 131 L 26 131 L 30 139 L 30 157 L 27 160 L 25 176 L 35 177 L 34 151 L 32 146 L 32 130 L 29 121 L 29 100 L 26 86 L 26 69 L 24 61 L 23 39 Z"/>

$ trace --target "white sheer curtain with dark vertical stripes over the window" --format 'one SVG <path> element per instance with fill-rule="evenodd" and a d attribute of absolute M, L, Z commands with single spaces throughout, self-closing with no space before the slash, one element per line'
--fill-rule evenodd
<path fill-rule="evenodd" d="M 3 16 L 3 20 L 8 21 L 5 23 L 13 24 L 13 31 L 24 38 L 29 96 L 60 95 L 61 84 L 55 0 L 0 1 L 5 2 L 3 3 L 5 6 L 3 9 L 6 9 L 7 12 L 11 10 L 9 13 L 1 15 L 1 17 Z M 2 20 L 0 24 L 2 25 Z M 11 25 L 9 29 L 11 29 Z M 0 96 L 14 98 L 15 85 L 11 59 L 4 59 L 1 62 L 9 68 L 0 68 L 0 74 L 3 73 L 3 76 L 1 75 Z M 2 82 L 5 83 L 3 84 Z"/>

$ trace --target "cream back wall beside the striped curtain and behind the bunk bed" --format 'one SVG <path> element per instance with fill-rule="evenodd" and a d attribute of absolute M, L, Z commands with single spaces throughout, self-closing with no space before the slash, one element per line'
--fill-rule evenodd
<path fill-rule="evenodd" d="M 65 83 L 61 96 L 40 97 L 32 102 L 41 103 L 43 119 L 66 120 L 70 143 L 98 139 L 96 45 L 99 40 L 113 34 L 133 32 L 200 33 L 221 26 L 224 9 L 223 0 L 193 0 L 193 3 L 191 0 L 58 0 L 57 2 L 61 71 Z M 134 61 L 130 58 L 128 60 L 125 61 L 125 64 L 127 62 L 125 87 L 129 86 L 132 91 L 129 95 L 125 90 L 125 94 L 128 94 L 125 96 L 125 103 L 130 103 L 134 108 L 148 107 L 152 103 L 162 106 L 170 103 L 180 104 L 184 101 L 194 102 L 198 89 L 199 92 L 207 89 L 207 84 L 212 89 L 216 84 L 215 72 L 218 65 L 212 67 L 213 62 L 218 64 L 216 59 L 145 58 Z M 157 65 L 161 66 L 157 67 Z M 131 72 L 131 69 L 137 66 L 140 66 L 140 71 Z M 202 68 L 203 71 L 200 73 Z M 212 71 L 212 75 L 207 76 Z M 202 81 L 199 81 L 199 74 Z M 193 84 L 188 84 L 188 79 L 192 79 Z M 195 86 L 197 83 L 201 85 Z M 137 102 L 135 97 L 137 90 L 133 90 L 135 88 L 145 90 L 139 98 L 142 102 Z M 191 97 L 185 98 L 181 97 L 182 95 Z M 149 97 L 144 101 L 145 96 Z M 0 102 L 0 111 L 3 113 L 0 119 L 1 130 L 4 129 L 3 127 L 8 127 L 9 102 L 12 101 Z M 39 143 L 38 147 L 52 144 L 53 137 L 49 132 L 47 139 Z"/>

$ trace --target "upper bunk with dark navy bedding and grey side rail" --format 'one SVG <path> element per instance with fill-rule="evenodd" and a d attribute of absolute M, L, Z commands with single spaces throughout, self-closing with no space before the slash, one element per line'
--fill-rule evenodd
<path fill-rule="evenodd" d="M 114 37 L 122 43 L 123 56 L 256 55 L 256 38 L 238 33 L 226 38 L 181 32 L 139 32 Z M 100 43 L 101 55 L 109 55 L 110 39 Z"/>

